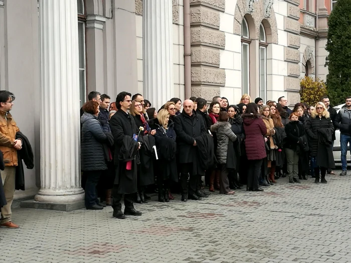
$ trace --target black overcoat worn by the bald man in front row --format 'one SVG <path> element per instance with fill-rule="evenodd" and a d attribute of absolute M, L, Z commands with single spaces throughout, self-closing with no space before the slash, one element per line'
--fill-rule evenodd
<path fill-rule="evenodd" d="M 198 173 L 197 149 L 193 146 L 195 138 L 207 133 L 204 120 L 198 116 L 196 111 L 189 116 L 183 111 L 174 118 L 174 130 L 177 134 L 177 147 L 179 152 L 179 163 L 193 163 L 193 174 Z"/>

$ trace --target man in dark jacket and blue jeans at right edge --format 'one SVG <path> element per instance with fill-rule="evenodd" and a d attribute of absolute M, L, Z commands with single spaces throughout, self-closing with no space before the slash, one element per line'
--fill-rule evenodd
<path fill-rule="evenodd" d="M 340 109 L 335 117 L 335 127 L 340 130 L 340 147 L 341 147 L 341 176 L 346 175 L 347 160 L 346 153 L 348 144 L 351 145 L 351 97 L 346 98 L 346 107 Z"/>

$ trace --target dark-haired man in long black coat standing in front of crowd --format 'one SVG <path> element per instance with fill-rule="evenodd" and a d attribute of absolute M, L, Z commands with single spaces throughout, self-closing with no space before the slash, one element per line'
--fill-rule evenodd
<path fill-rule="evenodd" d="M 125 218 L 125 214 L 141 215 L 141 212 L 135 210 L 133 206 L 133 197 L 137 191 L 137 150 L 140 149 L 141 142 L 135 141 L 139 131 L 134 118 L 128 114 L 131 106 L 130 96 L 130 93 L 124 91 L 117 95 L 116 107 L 118 111 L 110 120 L 115 144 L 114 164 L 116 177 L 112 189 L 112 208 L 113 216 L 116 218 Z M 137 140 L 140 138 L 141 136 Z M 120 203 L 123 194 L 124 213 Z"/>

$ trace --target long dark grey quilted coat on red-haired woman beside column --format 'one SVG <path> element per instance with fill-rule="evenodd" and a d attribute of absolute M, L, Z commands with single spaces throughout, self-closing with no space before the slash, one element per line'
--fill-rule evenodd
<path fill-rule="evenodd" d="M 107 136 L 97 116 L 84 112 L 82 123 L 81 168 L 82 171 L 107 170 L 103 143 Z"/>

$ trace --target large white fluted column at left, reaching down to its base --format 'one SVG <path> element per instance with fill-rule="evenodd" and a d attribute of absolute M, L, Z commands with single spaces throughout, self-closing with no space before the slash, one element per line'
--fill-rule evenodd
<path fill-rule="evenodd" d="M 35 201 L 81 203 L 77 1 L 40 0 L 39 10 L 41 188 Z"/>

